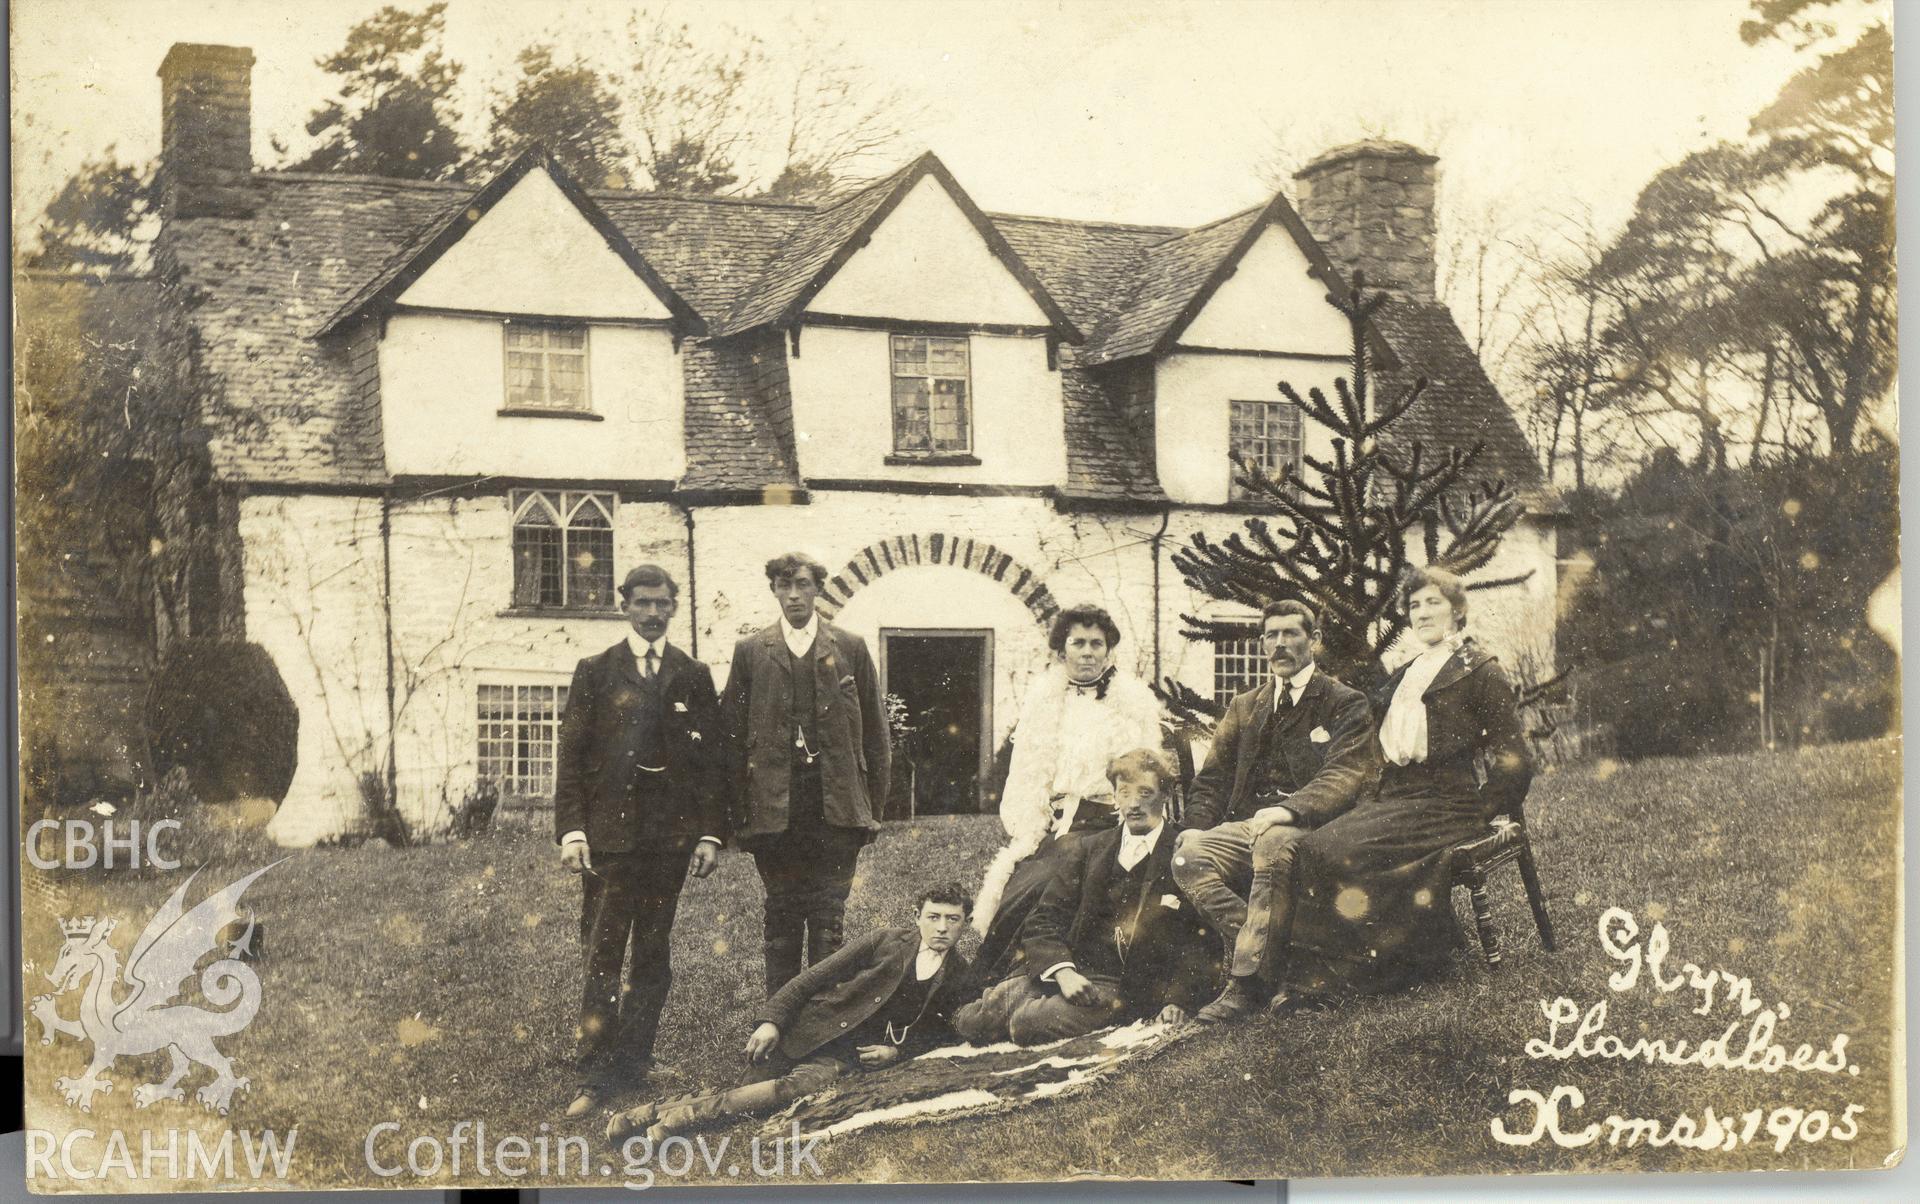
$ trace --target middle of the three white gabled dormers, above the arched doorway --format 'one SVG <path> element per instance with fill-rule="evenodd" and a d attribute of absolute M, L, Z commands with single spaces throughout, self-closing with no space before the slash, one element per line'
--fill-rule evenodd
<path fill-rule="evenodd" d="M 931 154 L 810 215 L 730 315 L 780 328 L 814 484 L 1056 486 L 1079 328 Z"/>

